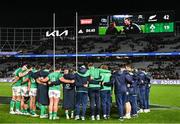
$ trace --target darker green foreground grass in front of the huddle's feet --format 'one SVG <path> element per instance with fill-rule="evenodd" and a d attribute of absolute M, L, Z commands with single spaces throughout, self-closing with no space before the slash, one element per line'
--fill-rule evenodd
<path fill-rule="evenodd" d="M 63 110 L 58 115 L 60 120 L 32 118 L 25 115 L 10 115 L 8 105 L 0 105 L 0 123 L 84 123 L 84 121 L 66 120 Z M 110 120 L 91 121 L 87 116 L 86 123 L 120 123 L 114 108 Z M 89 115 L 89 114 L 88 114 Z M 152 110 L 150 113 L 141 113 L 138 118 L 124 120 L 122 123 L 178 123 L 180 110 Z"/>

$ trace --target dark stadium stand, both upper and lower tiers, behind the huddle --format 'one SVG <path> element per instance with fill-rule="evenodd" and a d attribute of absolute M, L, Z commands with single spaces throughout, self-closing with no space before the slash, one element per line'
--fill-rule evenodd
<path fill-rule="evenodd" d="M 1 29 L 1 51 L 20 51 L 22 54 L 52 54 L 53 39 L 45 38 L 43 31 L 39 29 Z M 17 33 L 16 36 L 11 36 L 3 33 Z M 8 32 L 9 31 L 9 32 Z M 18 36 L 18 31 L 24 35 Z M 39 31 L 39 32 L 38 32 Z M 33 35 L 30 35 L 33 32 Z M 2 35 L 3 33 L 3 35 Z M 26 35 L 25 35 L 26 34 Z M 71 34 L 73 34 L 71 32 Z M 18 39 L 23 37 L 23 39 Z M 13 37 L 13 38 L 12 38 Z M 30 38 L 35 37 L 35 38 Z M 14 40 L 15 39 L 15 40 Z M 180 35 L 170 36 L 141 36 L 136 37 L 79 37 L 78 39 L 78 53 L 118 53 L 118 52 L 180 52 Z M 13 46 L 15 45 L 15 46 Z M 75 37 L 56 38 L 56 54 L 67 54 L 76 52 Z M 153 58 L 153 59 L 152 59 Z M 135 58 L 121 58 L 121 57 L 92 57 L 81 58 L 79 64 L 83 61 L 95 62 L 96 66 L 106 63 L 112 70 L 116 70 L 119 64 L 131 62 L 136 68 L 148 68 L 155 79 L 179 79 L 180 64 L 179 56 L 166 57 L 135 57 Z M 48 59 L 26 59 L 28 63 L 47 63 L 52 62 Z M 142 63 L 143 60 L 143 64 Z M 18 63 L 24 62 L 24 59 L 2 57 L 0 61 L 0 77 L 9 77 L 16 68 Z M 75 58 L 58 58 L 57 63 L 68 64 L 75 68 Z"/>

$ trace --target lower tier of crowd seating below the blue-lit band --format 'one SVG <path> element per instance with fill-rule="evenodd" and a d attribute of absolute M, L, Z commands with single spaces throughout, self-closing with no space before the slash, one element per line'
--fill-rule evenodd
<path fill-rule="evenodd" d="M 80 58 L 78 64 L 86 64 L 85 62 L 94 62 L 96 67 L 101 64 L 106 64 L 111 70 L 117 70 L 119 65 L 125 63 L 132 63 L 135 68 L 147 68 L 154 79 L 180 79 L 180 64 L 179 57 L 135 57 L 135 58 L 118 58 L 118 57 L 94 57 L 94 58 Z M 7 62 L 8 60 L 8 62 Z M 13 71 L 17 68 L 18 63 L 29 63 L 31 65 L 45 65 L 52 64 L 52 59 L 42 58 L 8 58 L 6 61 L 1 61 L 0 77 L 11 77 Z M 56 63 L 61 64 L 62 67 L 70 67 L 75 69 L 74 58 L 58 58 Z M 3 65 L 3 66 L 2 66 Z"/>

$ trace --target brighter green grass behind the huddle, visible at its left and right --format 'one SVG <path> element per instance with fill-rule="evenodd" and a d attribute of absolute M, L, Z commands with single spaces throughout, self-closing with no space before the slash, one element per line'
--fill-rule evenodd
<path fill-rule="evenodd" d="M 180 107 L 180 85 L 152 85 L 150 93 L 151 104 Z M 11 96 L 10 83 L 0 83 L 0 96 Z"/>

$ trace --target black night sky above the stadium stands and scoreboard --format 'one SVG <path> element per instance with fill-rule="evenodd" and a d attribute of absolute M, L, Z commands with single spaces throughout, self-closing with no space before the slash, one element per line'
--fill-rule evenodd
<path fill-rule="evenodd" d="M 6 0 L 1 2 L 0 27 L 52 26 L 53 12 L 56 13 L 58 26 L 71 26 L 75 24 L 76 11 L 79 15 L 105 15 L 174 10 L 176 20 L 180 20 L 178 7 L 174 2 L 167 3 L 165 0 L 159 3 L 157 3 L 158 0 L 76 0 L 78 3 L 72 3 L 74 0 L 65 0 L 64 3 L 62 1 L 59 0 L 59 3 L 53 0 Z"/>

